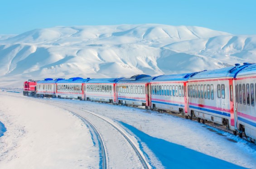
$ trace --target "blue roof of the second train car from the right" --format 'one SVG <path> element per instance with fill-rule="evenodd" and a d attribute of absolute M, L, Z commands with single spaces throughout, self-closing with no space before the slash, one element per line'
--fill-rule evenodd
<path fill-rule="evenodd" d="M 236 64 L 232 67 L 225 67 L 215 70 L 207 70 L 199 72 L 196 75 L 193 75 L 188 80 L 197 80 L 197 79 L 215 79 L 215 78 L 234 78 L 237 73 L 247 66 L 251 65 L 251 63 L 244 63 L 242 66 L 240 64 Z"/>

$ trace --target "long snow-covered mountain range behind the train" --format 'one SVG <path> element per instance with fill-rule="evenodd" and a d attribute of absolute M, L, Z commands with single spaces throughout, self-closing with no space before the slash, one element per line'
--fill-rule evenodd
<path fill-rule="evenodd" d="M 0 35 L 1 81 L 161 75 L 255 61 L 256 35 L 195 26 L 73 26 Z"/>

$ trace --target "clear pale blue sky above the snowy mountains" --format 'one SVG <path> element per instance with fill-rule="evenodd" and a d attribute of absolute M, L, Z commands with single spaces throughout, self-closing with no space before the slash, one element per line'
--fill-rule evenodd
<path fill-rule="evenodd" d="M 256 34 L 256 0 L 1 0 L 0 34 L 76 25 L 159 23 Z"/>

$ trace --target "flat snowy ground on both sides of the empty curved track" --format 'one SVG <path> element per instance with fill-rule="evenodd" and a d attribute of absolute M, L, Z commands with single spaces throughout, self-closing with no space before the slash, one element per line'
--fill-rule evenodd
<path fill-rule="evenodd" d="M 19 89 L 0 89 L 0 169 L 99 168 L 99 150 L 78 117 L 7 91 Z M 256 169 L 255 145 L 204 124 L 139 108 L 50 100 L 121 124 L 137 139 L 152 168 Z"/>

